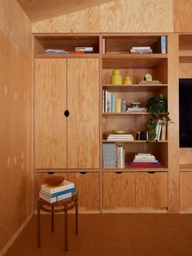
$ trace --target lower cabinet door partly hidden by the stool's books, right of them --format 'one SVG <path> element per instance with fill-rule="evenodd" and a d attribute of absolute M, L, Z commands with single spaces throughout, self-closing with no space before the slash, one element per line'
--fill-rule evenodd
<path fill-rule="evenodd" d="M 99 212 L 99 173 L 68 173 L 68 180 L 77 188 L 79 212 Z"/>

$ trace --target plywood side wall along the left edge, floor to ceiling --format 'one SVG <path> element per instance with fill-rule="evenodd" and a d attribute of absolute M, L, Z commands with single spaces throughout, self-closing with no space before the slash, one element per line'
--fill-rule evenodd
<path fill-rule="evenodd" d="M 15 0 L 0 2 L 0 240 L 2 249 L 33 212 L 31 23 Z"/>

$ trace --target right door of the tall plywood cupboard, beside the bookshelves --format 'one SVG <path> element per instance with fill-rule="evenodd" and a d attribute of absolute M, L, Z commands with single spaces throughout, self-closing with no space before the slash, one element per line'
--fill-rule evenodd
<path fill-rule="evenodd" d="M 68 168 L 99 168 L 98 59 L 68 60 Z"/>

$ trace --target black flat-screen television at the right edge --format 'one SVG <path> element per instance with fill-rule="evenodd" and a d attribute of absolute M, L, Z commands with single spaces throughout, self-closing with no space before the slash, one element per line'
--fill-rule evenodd
<path fill-rule="evenodd" d="M 179 79 L 180 148 L 192 148 L 192 78 Z"/>

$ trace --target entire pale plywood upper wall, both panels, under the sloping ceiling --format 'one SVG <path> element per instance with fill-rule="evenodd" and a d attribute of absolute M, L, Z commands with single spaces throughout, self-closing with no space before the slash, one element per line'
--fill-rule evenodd
<path fill-rule="evenodd" d="M 33 23 L 33 33 L 173 32 L 173 0 L 116 0 Z"/>

